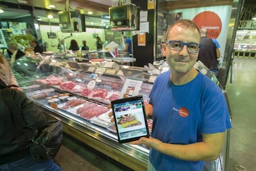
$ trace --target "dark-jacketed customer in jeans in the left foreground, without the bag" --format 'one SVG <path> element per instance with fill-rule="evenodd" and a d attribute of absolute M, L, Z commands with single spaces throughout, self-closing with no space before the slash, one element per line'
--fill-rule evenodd
<path fill-rule="evenodd" d="M 3 94 L 13 98 L 14 104 L 7 104 Z M 17 128 L 10 106 L 22 111 L 23 119 L 28 125 L 28 128 L 22 128 L 25 133 Z M 33 102 L 23 92 L 6 88 L 0 83 L 0 110 L 0 170 L 62 170 L 53 160 L 38 162 L 31 156 L 30 137 L 35 136 L 35 130 L 44 127 L 46 117 L 43 112 L 35 108 Z"/>

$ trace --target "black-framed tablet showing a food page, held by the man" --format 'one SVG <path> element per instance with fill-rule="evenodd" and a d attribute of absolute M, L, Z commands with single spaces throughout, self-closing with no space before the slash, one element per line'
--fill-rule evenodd
<path fill-rule="evenodd" d="M 139 140 L 142 136 L 150 136 L 142 96 L 117 99 L 111 101 L 111 106 L 119 143 L 128 143 Z"/>

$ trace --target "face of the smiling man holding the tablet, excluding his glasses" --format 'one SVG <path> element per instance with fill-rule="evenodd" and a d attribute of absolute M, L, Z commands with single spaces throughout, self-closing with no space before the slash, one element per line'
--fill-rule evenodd
<path fill-rule="evenodd" d="M 200 34 L 198 31 L 191 28 L 182 28 L 174 26 L 169 30 L 167 41 L 182 41 L 184 43 L 200 43 Z M 198 52 L 189 53 L 187 46 L 181 49 L 181 51 L 174 51 L 169 49 L 169 44 L 166 45 L 166 61 L 172 71 L 172 73 L 188 73 L 197 62 Z"/>

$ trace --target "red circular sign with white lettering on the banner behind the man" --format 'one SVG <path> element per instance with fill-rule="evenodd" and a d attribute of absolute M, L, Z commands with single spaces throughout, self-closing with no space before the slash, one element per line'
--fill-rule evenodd
<path fill-rule="evenodd" d="M 195 15 L 193 21 L 197 24 L 197 27 L 200 29 L 207 29 L 208 38 L 218 38 L 221 33 L 221 19 L 220 17 L 212 11 L 204 11 Z"/>

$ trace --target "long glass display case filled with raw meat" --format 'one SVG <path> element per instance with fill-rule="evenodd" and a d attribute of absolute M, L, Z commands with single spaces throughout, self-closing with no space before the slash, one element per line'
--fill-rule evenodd
<path fill-rule="evenodd" d="M 118 143 L 108 106 L 124 92 L 127 80 L 141 81 L 139 94 L 147 103 L 153 82 L 166 64 L 155 64 L 160 70 L 156 74 L 153 72 L 156 69 L 119 66 L 108 61 L 104 64 L 85 64 L 53 60 L 57 58 L 42 60 L 23 56 L 15 61 L 12 69 L 23 92 L 49 119 L 61 120 L 67 134 L 133 170 L 147 170 L 149 149 Z M 203 64 L 197 62 L 195 68 L 220 86 L 215 75 Z M 152 120 L 148 119 L 150 131 L 152 124 Z M 225 164 L 223 158 L 228 154 L 228 146 L 229 133 L 221 152 L 222 160 L 213 163 L 214 170 L 218 170 L 218 165 Z"/>

